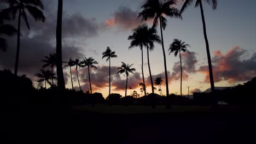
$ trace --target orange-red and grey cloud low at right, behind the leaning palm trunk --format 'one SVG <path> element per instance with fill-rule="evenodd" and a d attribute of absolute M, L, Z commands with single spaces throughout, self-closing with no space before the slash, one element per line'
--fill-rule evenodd
<path fill-rule="evenodd" d="M 220 51 L 214 52 L 212 65 L 214 82 L 251 80 L 256 75 L 256 53 L 250 57 L 246 50 L 234 46 L 225 55 Z M 197 71 L 206 75 L 204 82 L 210 83 L 208 65 L 201 66 Z"/>

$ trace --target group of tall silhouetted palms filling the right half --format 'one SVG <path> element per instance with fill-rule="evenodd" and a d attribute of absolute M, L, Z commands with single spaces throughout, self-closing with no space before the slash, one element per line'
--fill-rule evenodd
<path fill-rule="evenodd" d="M 209 66 L 209 73 L 210 73 L 210 81 L 211 81 L 211 89 L 214 93 L 214 81 L 213 81 L 213 74 L 212 74 L 212 64 L 211 64 L 211 55 L 210 55 L 210 49 L 206 34 L 206 25 L 205 25 L 205 17 L 203 14 L 203 7 L 202 7 L 202 1 L 207 2 L 212 6 L 213 9 L 217 8 L 217 0 L 183 0 L 185 1 L 181 10 L 178 10 L 174 5 L 176 5 L 176 0 L 168 0 L 168 1 L 161 1 L 161 0 L 147 0 L 145 4 L 142 5 L 142 11 L 138 14 L 138 17 L 142 18 L 142 21 L 148 21 L 153 19 L 153 26 L 152 28 L 148 28 L 146 24 L 143 24 L 141 26 L 138 26 L 137 28 L 133 29 L 133 35 L 129 36 L 129 40 L 131 40 L 131 47 L 138 46 L 141 50 L 143 46 L 145 46 L 148 49 L 152 50 L 154 47 L 154 42 L 161 43 L 162 44 L 162 52 L 164 57 L 164 67 L 165 67 L 165 84 L 166 84 L 166 95 L 169 95 L 169 89 L 168 89 L 168 77 L 167 77 L 167 68 L 166 68 L 166 56 L 165 56 L 165 47 L 164 47 L 164 38 L 163 38 L 163 30 L 165 30 L 167 26 L 167 19 L 166 17 L 176 17 L 179 19 L 182 19 L 181 14 L 183 11 L 191 5 L 195 1 L 195 7 L 200 6 L 201 10 L 201 17 L 202 17 L 202 23 L 203 23 L 203 34 L 205 37 L 206 42 L 206 51 L 207 51 L 207 58 L 208 58 L 208 66 Z M 161 31 L 161 40 L 159 39 L 158 35 L 156 35 L 155 28 L 160 24 L 160 31 Z M 141 35 L 141 36 L 139 36 Z M 154 37 L 153 37 L 154 35 Z M 181 51 L 182 52 L 188 52 L 187 47 L 189 45 L 185 44 L 181 40 L 174 39 L 173 43 L 170 45 L 170 53 L 174 52 L 174 56 L 177 56 L 179 53 L 180 56 L 180 62 L 181 62 Z M 149 59 L 149 58 L 148 58 Z M 148 60 L 149 65 L 149 60 Z M 142 50 L 142 73 L 143 72 L 143 50 Z M 182 64 L 181 64 L 181 73 L 182 73 Z M 154 93 L 153 88 L 153 81 L 152 76 L 150 72 L 150 66 L 149 66 L 149 75 L 150 75 L 150 81 L 152 85 L 152 93 Z M 181 74 L 181 81 L 182 81 L 182 74 Z M 144 76 L 143 76 L 143 85 L 144 83 Z M 146 93 L 146 92 L 145 92 Z M 181 82 L 181 94 L 182 94 L 182 82 Z M 213 100 L 213 105 L 216 104 L 216 98 L 213 97 L 215 100 Z"/>

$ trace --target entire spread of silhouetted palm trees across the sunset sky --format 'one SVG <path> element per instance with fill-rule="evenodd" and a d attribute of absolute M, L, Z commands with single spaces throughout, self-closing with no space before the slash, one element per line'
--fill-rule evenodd
<path fill-rule="evenodd" d="M 131 47 L 138 46 L 142 51 L 142 76 L 143 76 L 143 91 L 146 94 L 146 87 L 145 87 L 145 81 L 144 81 L 144 71 L 143 71 L 143 47 L 146 47 L 147 49 L 147 55 L 149 53 L 149 50 L 153 50 L 154 43 L 161 43 L 162 45 L 162 52 L 163 52 L 163 58 L 164 58 L 164 68 L 165 68 L 165 85 L 166 85 L 166 95 L 169 95 L 169 89 L 168 89 L 168 76 L 167 76 L 167 63 L 166 63 L 166 55 L 165 55 L 165 47 L 164 47 L 164 37 L 163 37 L 163 30 L 165 30 L 167 26 L 167 19 L 166 17 L 175 17 L 182 19 L 181 14 L 184 12 L 184 10 L 193 2 L 195 2 L 195 7 L 200 7 L 201 10 L 201 17 L 202 17 L 202 24 L 203 24 L 203 35 L 205 37 L 205 43 L 206 43 L 206 51 L 207 51 L 207 58 L 208 58 L 208 68 L 210 73 L 210 82 L 211 82 L 211 89 L 212 92 L 214 92 L 214 81 L 213 81 L 213 73 L 212 73 L 212 64 L 211 64 L 211 55 L 210 55 L 210 48 L 208 44 L 207 39 L 207 33 L 206 33 L 206 24 L 205 24 L 205 16 L 203 13 L 203 7 L 202 2 L 206 2 L 212 6 L 213 9 L 217 8 L 217 0 L 183 0 L 184 4 L 181 8 L 181 10 L 178 10 L 174 5 L 176 5 L 176 0 L 147 0 L 145 4 L 142 5 L 142 11 L 138 14 L 138 17 L 142 18 L 143 21 L 153 20 L 153 26 L 149 28 L 146 24 L 143 24 L 141 26 L 138 26 L 137 28 L 133 29 L 133 34 L 129 36 L 129 40 L 131 40 Z M 43 9 L 44 6 L 40 0 L 3 0 L 1 1 L 3 3 L 9 4 L 9 7 L 7 9 L 0 11 L 0 34 L 5 35 L 14 35 L 17 33 L 18 40 L 17 40 L 17 50 L 16 50 L 16 60 L 15 60 L 15 70 L 14 74 L 15 76 L 18 73 L 18 64 L 19 64 L 19 51 L 20 51 L 20 25 L 21 25 L 21 19 L 25 21 L 26 26 L 28 29 L 30 29 L 30 25 L 27 20 L 27 14 L 30 14 L 34 20 L 36 21 L 45 21 Z M 62 67 L 62 7 L 63 7 L 63 0 L 58 0 L 58 10 L 57 10 L 57 26 L 56 26 L 56 69 L 57 69 L 57 85 L 61 89 L 65 89 L 65 81 L 63 77 L 63 67 Z M 16 15 L 18 15 L 18 29 L 14 28 L 13 26 L 7 25 L 4 22 L 15 19 Z M 161 37 L 157 35 L 156 27 L 160 24 L 160 32 Z M 5 31 L 6 30 L 6 31 Z M 6 40 L 3 38 L 0 38 L 0 44 L 1 49 L 6 49 L 7 44 Z M 182 43 L 181 40 L 174 40 L 173 43 L 170 45 L 170 51 L 174 52 L 174 55 L 177 56 L 178 53 L 181 51 L 187 52 L 187 44 Z M 107 57 L 107 61 L 109 61 L 109 71 L 110 71 L 110 58 L 117 57 L 115 53 L 111 53 L 110 51 L 106 51 L 104 53 L 103 57 Z M 71 60 L 71 59 L 70 59 Z M 83 63 L 81 65 L 79 63 L 79 60 L 76 59 L 74 61 L 76 68 L 79 67 L 88 67 L 88 74 L 90 75 L 90 67 L 94 67 L 94 64 L 97 64 L 96 61 L 90 58 L 84 58 L 84 61 L 88 63 Z M 180 55 L 181 60 L 181 55 Z M 69 67 L 72 67 L 72 63 L 67 63 Z M 51 65 L 50 65 L 51 66 Z M 133 73 L 135 69 L 130 68 L 132 66 L 129 64 L 122 63 L 119 73 L 125 73 L 126 77 L 128 77 L 129 73 Z M 53 68 L 53 67 L 52 67 Z M 125 69 L 125 68 L 129 68 Z M 149 55 L 148 55 L 148 68 L 149 68 L 149 74 L 150 74 L 150 83 L 152 85 L 152 93 L 154 93 L 154 86 L 153 86 L 153 80 L 152 80 L 152 74 L 150 70 L 150 64 L 149 64 Z M 181 68 L 182 71 L 182 68 Z M 53 83 L 53 70 L 52 70 L 52 83 Z M 182 74 L 181 74 L 182 79 Z M 89 76 L 90 81 L 90 76 Z M 182 83 L 182 82 L 181 82 Z M 80 85 L 80 84 L 79 84 Z M 72 85 L 73 86 L 73 85 Z M 79 86 L 80 87 L 80 86 Z M 72 87 L 73 88 L 73 87 Z M 127 86 L 126 86 L 127 89 Z M 91 90 L 91 85 L 90 85 Z M 182 90 L 181 90 L 182 93 Z M 110 94 L 110 72 L 109 72 L 109 94 Z M 215 98 L 215 97 L 213 97 Z M 216 103 L 216 100 L 213 100 L 213 104 Z"/>

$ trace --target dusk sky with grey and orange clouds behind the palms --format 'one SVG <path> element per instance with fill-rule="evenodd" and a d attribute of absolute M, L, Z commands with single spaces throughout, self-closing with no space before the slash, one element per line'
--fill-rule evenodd
<path fill-rule="evenodd" d="M 44 64 L 44 56 L 55 52 L 55 31 L 57 17 L 57 1 L 43 0 L 46 21 L 35 22 L 31 17 L 28 20 L 31 30 L 21 22 L 21 53 L 18 75 L 25 74 L 36 84 L 38 78 L 35 76 Z M 112 70 L 112 93 L 125 93 L 125 75 L 117 74 L 121 62 L 133 64 L 136 73 L 130 74 L 128 88 L 139 92 L 138 84 L 142 82 L 141 74 L 141 50 L 139 47 L 128 49 L 132 35 L 132 29 L 141 24 L 137 15 L 145 0 L 63 0 L 62 20 L 62 49 L 63 61 L 93 57 L 99 63 L 97 69 L 91 69 L 92 91 L 101 92 L 104 97 L 108 95 L 108 62 L 102 59 L 102 52 L 107 46 L 115 51 L 118 58 L 111 59 Z M 251 80 L 256 76 L 256 9 L 255 1 L 234 0 L 218 1 L 218 7 L 213 10 L 210 5 L 203 2 L 205 10 L 206 28 L 210 43 L 210 52 L 213 64 L 213 77 L 215 86 L 234 86 Z M 182 2 L 179 1 L 177 8 L 180 9 Z M 0 9 L 3 9 L 1 5 Z M 202 21 L 199 8 L 191 5 L 182 15 L 183 20 L 167 18 L 167 27 L 164 34 L 164 45 L 166 52 L 168 81 L 170 93 L 180 93 L 180 65 L 179 57 L 173 53 L 168 55 L 169 45 L 173 39 L 181 39 L 189 44 L 188 53 L 182 53 L 183 66 L 183 94 L 190 92 L 205 91 L 210 88 L 210 80 L 207 67 L 206 46 L 203 39 Z M 11 21 L 14 26 L 18 25 L 16 20 Z M 149 26 L 150 26 L 150 22 Z M 160 34 L 160 28 L 158 28 Z M 0 69 L 14 70 L 16 37 L 8 39 L 7 52 L 0 52 Z M 148 84 L 147 92 L 150 93 L 150 79 L 146 49 L 144 49 L 144 75 Z M 149 53 L 150 66 L 152 68 L 153 80 L 164 76 L 164 58 L 162 47 L 155 44 L 154 50 Z M 72 68 L 74 86 L 78 88 Z M 66 87 L 71 88 L 69 69 L 64 70 Z M 84 91 L 89 90 L 88 71 L 79 68 L 79 80 Z M 164 82 L 165 83 L 165 82 Z M 48 86 L 49 87 L 49 86 Z M 156 87 L 158 93 L 158 87 Z M 132 90 L 132 91 L 133 91 Z M 165 94 L 165 85 L 162 85 Z M 140 92 L 139 92 L 140 93 Z M 128 89 L 127 94 L 130 94 Z"/>

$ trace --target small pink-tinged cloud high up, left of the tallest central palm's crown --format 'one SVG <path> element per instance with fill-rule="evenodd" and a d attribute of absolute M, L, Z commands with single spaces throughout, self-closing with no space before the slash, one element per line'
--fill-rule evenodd
<path fill-rule="evenodd" d="M 141 23 L 141 19 L 137 19 L 137 16 L 138 11 L 133 11 L 127 7 L 119 7 L 119 9 L 113 14 L 112 19 L 106 20 L 106 26 L 117 26 L 122 30 L 130 30 Z"/>

